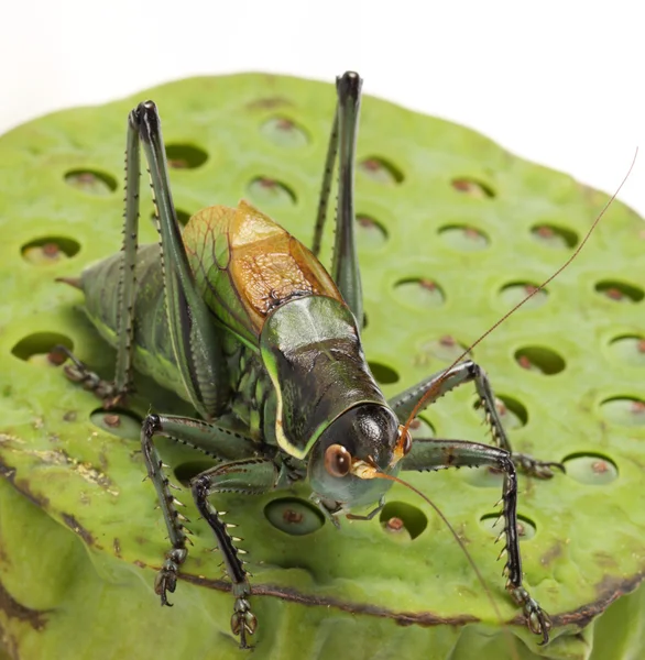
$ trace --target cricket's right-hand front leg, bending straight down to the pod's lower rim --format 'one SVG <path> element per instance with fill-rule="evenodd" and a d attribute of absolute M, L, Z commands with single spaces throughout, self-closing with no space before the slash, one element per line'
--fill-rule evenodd
<path fill-rule="evenodd" d="M 524 610 L 532 632 L 542 635 L 542 644 L 549 639 L 551 622 L 522 582 L 522 557 L 517 538 L 517 473 L 511 454 L 504 450 L 479 442 L 460 440 L 415 440 L 412 451 L 403 459 L 403 470 L 441 470 L 447 468 L 491 466 L 504 473 L 502 492 L 505 543 L 500 557 L 507 556 L 504 565 L 506 591 Z M 501 536 L 500 535 L 500 536 Z"/>

